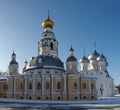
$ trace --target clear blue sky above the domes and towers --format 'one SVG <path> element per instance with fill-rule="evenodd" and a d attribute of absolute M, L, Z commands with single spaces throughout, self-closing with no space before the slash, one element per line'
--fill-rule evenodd
<path fill-rule="evenodd" d="M 13 49 L 20 72 L 25 59 L 37 56 L 48 10 L 61 60 L 66 61 L 72 45 L 79 61 L 83 49 L 88 56 L 96 42 L 115 84 L 120 84 L 120 0 L 0 0 L 0 70 L 7 71 Z"/>

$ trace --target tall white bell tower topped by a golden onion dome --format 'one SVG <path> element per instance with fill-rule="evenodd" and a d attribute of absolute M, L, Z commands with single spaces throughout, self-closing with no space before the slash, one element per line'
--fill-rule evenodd
<path fill-rule="evenodd" d="M 43 21 L 43 33 L 41 40 L 38 42 L 38 55 L 47 54 L 58 56 L 58 42 L 53 33 L 54 22 L 50 19 L 48 12 L 47 19 Z"/>

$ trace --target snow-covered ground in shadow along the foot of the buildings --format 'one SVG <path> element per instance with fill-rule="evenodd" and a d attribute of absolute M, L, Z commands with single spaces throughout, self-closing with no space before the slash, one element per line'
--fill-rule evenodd
<path fill-rule="evenodd" d="M 120 96 L 104 97 L 98 100 L 82 100 L 82 101 L 41 101 L 41 100 L 16 100 L 16 99 L 0 99 L 0 107 L 11 108 L 120 108 Z"/>

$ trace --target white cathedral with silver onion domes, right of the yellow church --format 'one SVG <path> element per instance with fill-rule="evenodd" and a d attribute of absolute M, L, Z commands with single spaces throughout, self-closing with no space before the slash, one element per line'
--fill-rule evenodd
<path fill-rule="evenodd" d="M 107 58 L 103 54 L 99 54 L 94 50 L 88 58 L 84 55 L 83 58 L 80 59 L 80 65 L 80 74 L 97 78 L 97 97 L 114 96 L 114 80 L 108 73 Z"/>

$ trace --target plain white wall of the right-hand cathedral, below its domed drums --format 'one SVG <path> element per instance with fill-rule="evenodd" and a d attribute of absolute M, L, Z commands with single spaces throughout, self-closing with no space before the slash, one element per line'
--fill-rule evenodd
<path fill-rule="evenodd" d="M 106 73 L 104 71 L 81 71 L 81 74 L 88 76 L 96 77 L 96 89 L 97 89 L 97 96 L 98 98 L 101 97 L 100 88 L 103 85 L 103 95 L 102 97 L 111 97 L 114 96 L 114 81 L 112 78 L 106 77 Z M 87 73 L 87 74 L 86 74 Z"/>

